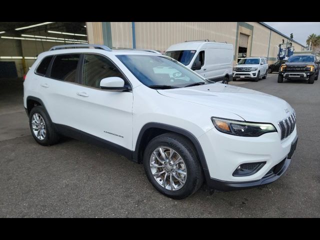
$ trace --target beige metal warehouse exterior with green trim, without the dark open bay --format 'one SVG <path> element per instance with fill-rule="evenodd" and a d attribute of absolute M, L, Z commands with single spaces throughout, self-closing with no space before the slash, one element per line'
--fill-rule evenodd
<path fill-rule="evenodd" d="M 112 48 L 165 51 L 189 40 L 227 42 L 233 44 L 234 63 L 245 56 L 263 56 L 273 63 L 282 42 L 291 42 L 295 51 L 304 47 L 263 22 L 86 22 L 86 26 L 89 43 Z"/>

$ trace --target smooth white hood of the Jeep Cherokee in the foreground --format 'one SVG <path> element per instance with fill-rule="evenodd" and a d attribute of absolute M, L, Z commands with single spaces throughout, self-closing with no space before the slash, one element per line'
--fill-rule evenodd
<path fill-rule="evenodd" d="M 222 83 L 157 91 L 167 97 L 232 112 L 246 121 L 274 123 L 292 112 L 292 107 L 281 98 Z M 214 110 L 212 110 L 212 115 L 214 116 Z"/>

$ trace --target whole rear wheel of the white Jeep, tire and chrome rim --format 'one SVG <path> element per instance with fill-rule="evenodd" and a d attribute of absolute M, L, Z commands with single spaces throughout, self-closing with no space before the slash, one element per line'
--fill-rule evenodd
<path fill-rule="evenodd" d="M 59 135 L 52 126 L 50 117 L 42 106 L 35 106 L 29 113 L 29 126 L 34 140 L 41 145 L 52 145 Z"/>

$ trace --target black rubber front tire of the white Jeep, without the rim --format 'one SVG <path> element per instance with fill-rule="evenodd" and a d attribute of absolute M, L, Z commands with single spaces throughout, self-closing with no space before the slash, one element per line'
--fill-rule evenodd
<path fill-rule="evenodd" d="M 184 185 L 177 190 L 164 188 L 152 175 L 150 169 L 150 157 L 153 151 L 160 146 L 170 147 L 176 151 L 185 163 L 187 177 Z M 196 151 L 191 142 L 179 134 L 164 133 L 154 137 L 149 141 L 143 153 L 143 166 L 148 180 L 159 192 L 174 199 L 182 199 L 193 194 L 203 183 L 202 167 L 195 152 Z"/>

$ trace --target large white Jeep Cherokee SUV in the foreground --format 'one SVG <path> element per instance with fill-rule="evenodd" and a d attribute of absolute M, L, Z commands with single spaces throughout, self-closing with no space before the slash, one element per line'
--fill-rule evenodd
<path fill-rule="evenodd" d="M 62 45 L 38 55 L 24 85 L 35 141 L 60 135 L 107 146 L 143 163 L 153 186 L 172 198 L 276 180 L 297 142 L 284 100 L 212 83 L 168 56 Z"/>

